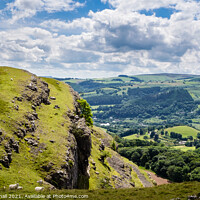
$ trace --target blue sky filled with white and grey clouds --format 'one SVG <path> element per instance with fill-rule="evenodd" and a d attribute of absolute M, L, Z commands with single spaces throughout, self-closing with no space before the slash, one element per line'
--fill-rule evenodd
<path fill-rule="evenodd" d="M 200 0 L 0 0 L 0 66 L 60 78 L 200 74 Z"/>

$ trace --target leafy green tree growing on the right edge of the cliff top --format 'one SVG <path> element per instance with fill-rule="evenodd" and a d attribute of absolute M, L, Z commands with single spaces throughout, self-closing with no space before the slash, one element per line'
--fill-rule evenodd
<path fill-rule="evenodd" d="M 81 117 L 85 118 L 86 124 L 88 126 L 92 126 L 93 125 L 93 121 L 92 121 L 93 115 L 92 115 L 92 111 L 91 111 L 89 103 L 85 99 L 79 99 L 79 100 L 77 100 L 77 102 L 80 105 Z"/>

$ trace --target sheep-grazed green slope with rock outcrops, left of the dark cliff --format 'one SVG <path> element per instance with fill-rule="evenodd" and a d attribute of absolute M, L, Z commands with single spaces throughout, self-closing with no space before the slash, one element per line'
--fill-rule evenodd
<path fill-rule="evenodd" d="M 3 104 L 0 113 L 3 168 L 0 170 L 0 184 L 19 182 L 32 188 L 37 180 L 47 176 L 44 168 L 49 163 L 56 169 L 65 161 L 70 123 L 66 112 L 74 109 L 73 98 L 69 86 L 45 79 L 49 83 L 50 96 L 56 97 L 56 100 L 50 100 L 50 105 L 45 105 L 49 103 L 40 102 L 44 101 L 42 93 L 45 93 L 42 80 L 28 72 L 7 67 L 0 68 L 0 75 L 0 101 Z M 37 82 L 37 91 L 26 87 L 32 81 Z M 56 104 L 59 109 L 54 109 Z M 16 143 L 18 150 L 12 147 L 11 140 Z M 12 162 L 6 162 L 7 158 Z"/>

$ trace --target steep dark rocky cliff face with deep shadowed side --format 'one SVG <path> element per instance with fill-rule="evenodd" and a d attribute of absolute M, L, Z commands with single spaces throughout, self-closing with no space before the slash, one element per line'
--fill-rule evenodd
<path fill-rule="evenodd" d="M 70 119 L 66 163 L 60 170 L 51 172 L 45 180 L 51 184 L 57 183 L 58 188 L 89 188 L 88 158 L 91 153 L 91 129 L 86 125 L 85 119 L 80 117 L 80 108 L 77 92 L 70 88 L 74 100 L 74 110 L 69 110 Z"/>

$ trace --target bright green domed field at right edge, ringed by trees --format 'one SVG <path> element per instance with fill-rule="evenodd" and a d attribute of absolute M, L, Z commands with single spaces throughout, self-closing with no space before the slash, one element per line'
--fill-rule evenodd
<path fill-rule="evenodd" d="M 167 128 L 165 129 L 165 131 L 168 131 L 168 133 L 170 132 L 179 133 L 182 134 L 183 137 L 192 136 L 194 138 L 197 137 L 197 133 L 199 132 L 197 129 L 191 128 L 189 126 L 175 126 L 172 128 Z"/>

